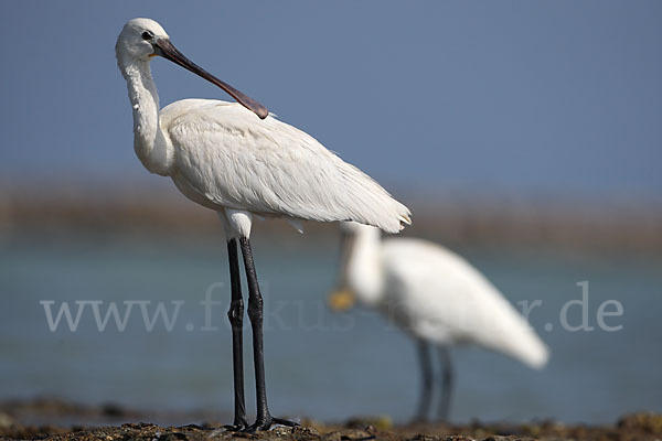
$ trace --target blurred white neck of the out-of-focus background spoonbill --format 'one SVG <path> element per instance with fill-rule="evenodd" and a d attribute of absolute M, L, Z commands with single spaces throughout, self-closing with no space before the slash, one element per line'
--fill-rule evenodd
<path fill-rule="evenodd" d="M 382 234 L 362 226 L 356 233 L 348 261 L 348 282 L 356 298 L 367 306 L 376 305 L 383 295 Z"/>

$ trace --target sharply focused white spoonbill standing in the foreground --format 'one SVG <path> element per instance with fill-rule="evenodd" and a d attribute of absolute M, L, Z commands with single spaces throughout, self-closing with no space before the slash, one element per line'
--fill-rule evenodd
<path fill-rule="evenodd" d="M 253 215 L 320 222 L 355 220 L 397 233 L 410 213 L 370 176 L 343 162 L 311 136 L 280 122 L 267 109 L 179 52 L 159 23 L 127 22 L 115 46 L 134 110 L 134 148 L 151 173 L 170 176 L 193 202 L 223 222 L 229 256 L 236 429 L 291 422 L 267 407 L 263 352 L 263 299 L 250 250 Z M 221 87 L 239 104 L 183 99 L 159 111 L 150 60 L 162 56 Z M 248 282 L 248 318 L 257 419 L 247 428 L 244 405 L 242 300 L 237 241 Z"/>

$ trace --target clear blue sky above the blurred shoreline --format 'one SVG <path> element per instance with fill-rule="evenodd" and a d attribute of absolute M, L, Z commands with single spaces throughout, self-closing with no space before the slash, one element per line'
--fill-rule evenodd
<path fill-rule="evenodd" d="M 150 17 L 197 64 L 387 187 L 662 195 L 662 2 L 4 1 L 4 180 L 158 180 L 114 45 Z M 161 105 L 229 99 L 173 64 Z"/>

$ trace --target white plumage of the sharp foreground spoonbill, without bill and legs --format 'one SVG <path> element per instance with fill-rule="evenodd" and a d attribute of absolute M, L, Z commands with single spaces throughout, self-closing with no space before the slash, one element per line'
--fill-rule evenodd
<path fill-rule="evenodd" d="M 150 172 L 171 176 L 189 198 L 216 211 L 355 220 L 388 233 L 410 222 L 407 207 L 374 180 L 274 116 L 261 120 L 241 105 L 206 99 L 159 111 L 149 64 L 156 52 L 146 32 L 150 41 L 169 39 L 154 21 L 134 19 L 116 53 L 134 109 L 136 153 Z"/>

